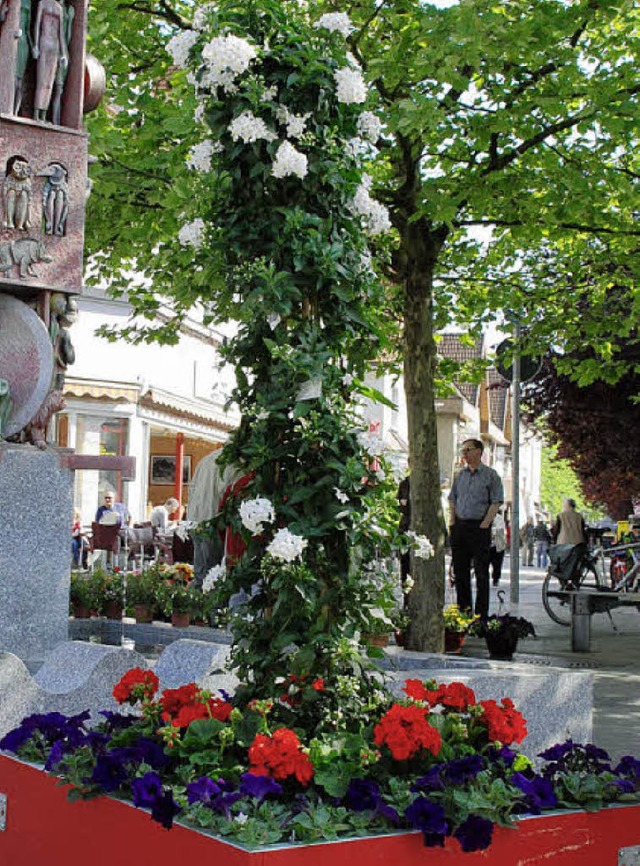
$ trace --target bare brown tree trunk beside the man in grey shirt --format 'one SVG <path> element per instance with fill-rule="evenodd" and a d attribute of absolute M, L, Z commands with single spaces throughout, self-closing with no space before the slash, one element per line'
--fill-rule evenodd
<path fill-rule="evenodd" d="M 409 428 L 411 528 L 426 535 L 435 555 L 411 554 L 407 649 L 442 652 L 444 645 L 444 518 L 435 412 L 436 346 L 433 339 L 433 272 L 443 239 L 424 220 L 406 223 L 403 235 L 404 387 Z"/>

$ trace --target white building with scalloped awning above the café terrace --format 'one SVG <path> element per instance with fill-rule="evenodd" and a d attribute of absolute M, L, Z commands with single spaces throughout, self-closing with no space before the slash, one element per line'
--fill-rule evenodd
<path fill-rule="evenodd" d="M 78 307 L 79 321 L 71 330 L 76 363 L 67 370 L 58 444 L 80 454 L 136 458 L 134 482 L 124 482 L 119 472 L 76 473 L 75 505 L 82 522 L 91 522 L 107 487 L 128 505 L 134 521 L 145 520 L 151 504 L 170 496 L 188 504 L 198 461 L 219 447 L 239 420 L 236 411 L 224 409 L 233 374 L 218 369 L 221 334 L 194 318 L 185 322 L 175 346 L 111 343 L 95 331 L 127 323 L 127 302 L 90 288 Z M 175 465 L 181 458 L 179 485 Z"/>

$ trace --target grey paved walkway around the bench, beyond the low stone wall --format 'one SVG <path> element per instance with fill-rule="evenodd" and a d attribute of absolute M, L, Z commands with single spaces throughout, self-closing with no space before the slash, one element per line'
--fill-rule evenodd
<path fill-rule="evenodd" d="M 520 601 L 509 601 L 509 559 L 502 569 L 498 589 L 504 590 L 502 612 L 524 616 L 534 624 L 537 638 L 518 644 L 515 660 L 521 664 L 591 670 L 594 675 L 594 742 L 614 758 L 632 754 L 640 757 L 640 612 L 617 608 L 594 614 L 591 619 L 591 650 L 571 650 L 570 629 L 557 625 L 542 605 L 545 572 L 520 566 Z M 449 591 L 447 591 L 448 594 Z M 490 613 L 499 612 L 497 590 L 491 590 Z M 462 655 L 487 658 L 484 640 L 468 637 Z"/>

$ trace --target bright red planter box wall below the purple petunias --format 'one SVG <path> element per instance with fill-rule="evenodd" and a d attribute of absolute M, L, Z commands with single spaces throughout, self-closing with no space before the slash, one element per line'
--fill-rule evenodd
<path fill-rule="evenodd" d="M 640 844 L 640 805 L 634 805 L 528 818 L 516 830 L 498 828 L 491 847 L 474 854 L 461 853 L 455 842 L 425 848 L 420 833 L 249 852 L 185 827 L 164 830 L 147 812 L 117 800 L 69 803 L 66 790 L 39 768 L 0 755 L 3 866 L 615 866 L 620 848 Z"/>

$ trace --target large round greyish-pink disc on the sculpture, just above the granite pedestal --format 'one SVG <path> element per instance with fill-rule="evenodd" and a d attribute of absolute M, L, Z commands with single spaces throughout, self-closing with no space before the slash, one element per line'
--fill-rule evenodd
<path fill-rule="evenodd" d="M 0 294 L 0 379 L 9 383 L 12 408 L 2 433 L 19 433 L 51 388 L 53 347 L 44 322 L 13 295 Z"/>

